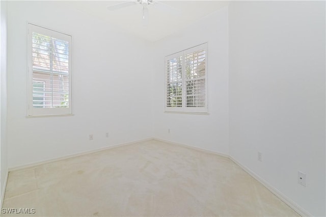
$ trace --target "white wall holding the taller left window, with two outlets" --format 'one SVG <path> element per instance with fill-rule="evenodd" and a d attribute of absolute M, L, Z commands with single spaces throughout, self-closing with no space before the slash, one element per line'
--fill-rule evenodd
<path fill-rule="evenodd" d="M 147 42 L 64 4 L 8 3 L 10 168 L 152 136 Z M 27 22 L 72 35 L 72 117 L 26 118 Z"/>

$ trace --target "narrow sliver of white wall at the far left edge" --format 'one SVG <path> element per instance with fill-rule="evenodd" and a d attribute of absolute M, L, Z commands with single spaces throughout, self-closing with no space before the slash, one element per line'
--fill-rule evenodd
<path fill-rule="evenodd" d="M 0 2 L 0 206 L 8 174 L 7 152 L 7 2 Z"/>

